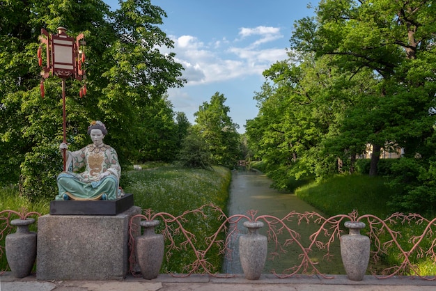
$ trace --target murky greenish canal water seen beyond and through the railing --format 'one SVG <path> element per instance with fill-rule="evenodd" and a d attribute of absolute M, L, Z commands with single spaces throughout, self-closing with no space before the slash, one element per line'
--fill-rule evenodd
<path fill-rule="evenodd" d="M 249 210 L 256 210 L 256 217 L 259 215 L 272 215 L 282 219 L 293 211 L 299 213 L 318 212 L 325 217 L 325 215 L 315 207 L 305 203 L 294 194 L 272 189 L 270 187 L 271 184 L 272 180 L 267 178 L 263 173 L 254 171 L 233 171 L 230 197 L 228 200 L 228 216 L 230 217 L 233 214 L 247 214 Z M 301 235 L 299 241 L 307 247 L 310 244 L 309 236 L 316 232 L 319 226 L 316 223 L 298 223 L 296 220 L 295 217 L 293 221 L 286 224 Z M 242 226 L 242 223 L 243 221 L 238 223 L 240 235 L 247 233 L 247 229 Z M 259 233 L 267 235 L 266 225 Z M 231 239 L 230 249 L 232 251 L 231 254 L 226 255 L 226 259 L 224 260 L 224 274 L 242 274 L 238 251 L 239 236 L 234 236 Z M 286 269 L 300 264 L 301 258 L 299 258 L 299 254 L 301 254 L 302 251 L 295 243 L 286 247 L 286 253 L 280 253 L 278 258 L 276 257 L 272 260 L 270 253 L 274 251 L 274 247 L 274 242 L 270 241 L 268 244 L 267 262 L 265 263 L 263 273 L 269 274 L 274 270 L 277 274 L 282 274 Z M 310 258 L 313 262 L 318 262 L 317 267 L 323 274 L 345 274 L 339 251 L 339 240 L 337 238 L 330 249 L 330 253 L 334 254 L 331 260 L 325 260 L 325 258 L 323 258 L 326 253 L 327 251 L 318 251 L 316 246 L 313 246 Z M 309 267 L 307 272 L 311 273 L 311 271 L 312 269 Z"/>

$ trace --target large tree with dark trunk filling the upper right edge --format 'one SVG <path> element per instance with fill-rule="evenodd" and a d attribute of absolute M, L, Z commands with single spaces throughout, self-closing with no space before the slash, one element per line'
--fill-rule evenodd
<path fill-rule="evenodd" d="M 353 74 L 361 68 L 377 73 L 373 90 L 349 111 L 343 134 L 374 146 L 371 175 L 377 174 L 381 148 L 403 148 L 404 157 L 391 168 L 391 185 L 397 190 L 391 204 L 398 211 L 434 215 L 436 3 L 341 3 L 320 3 L 312 51 L 335 56 Z"/>

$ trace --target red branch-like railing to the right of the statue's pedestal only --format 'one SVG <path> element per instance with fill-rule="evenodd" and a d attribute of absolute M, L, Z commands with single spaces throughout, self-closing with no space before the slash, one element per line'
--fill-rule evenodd
<path fill-rule="evenodd" d="M 198 214 L 201 219 L 207 221 L 208 216 L 205 214 L 205 209 L 208 209 L 208 211 L 212 209 L 215 212 L 219 212 L 221 226 L 219 226 L 212 235 L 203 237 L 205 242 L 208 242 L 207 247 L 198 249 L 196 242 L 198 242 L 200 238 L 195 237 L 185 228 L 185 225 L 189 223 L 186 217 L 188 214 Z M 318 274 L 324 278 L 333 278 L 332 276 L 320 272 L 318 267 L 319 262 L 311 259 L 311 253 L 315 250 L 324 250 L 325 255 L 323 258 L 329 260 L 329 258 L 332 257 L 330 250 L 332 245 L 340 239 L 341 235 L 345 234 L 343 223 L 345 221 L 362 221 L 366 223 L 366 228 L 364 229 L 366 233 L 364 233 L 364 235 L 367 235 L 371 239 L 371 274 L 377 278 L 389 278 L 404 274 L 412 274 L 426 280 L 434 280 L 436 278 L 436 276 L 421 276 L 419 267 L 411 260 L 412 257 L 416 256 L 416 258 L 427 257 L 433 262 L 436 262 L 436 238 L 433 233 L 433 228 L 436 226 L 436 219 L 430 221 L 421 217 L 419 214 L 402 213 L 394 213 L 387 219 L 380 219 L 371 214 L 359 216 L 357 211 L 329 218 L 322 217 L 316 212 L 290 212 L 283 218 L 271 215 L 256 215 L 257 212 L 251 210 L 247 212 L 247 214 L 236 214 L 227 217 L 226 214 L 224 214 L 219 207 L 215 207 L 215 205 L 203 205 L 196 210 L 187 211 L 178 217 L 164 212 L 153 213 L 151 210 L 145 210 L 145 214 L 137 215 L 131 219 L 130 246 L 132 248 L 134 246 L 133 234 L 138 231 L 139 227 L 136 223 L 133 223 L 134 219 L 138 217 L 145 220 L 157 219 L 163 223 L 162 234 L 164 234 L 168 242 L 166 251 L 167 259 L 171 257 L 173 251 L 178 249 L 190 248 L 190 250 L 195 253 L 196 260 L 190 265 L 187 265 L 186 274 L 180 276 L 189 276 L 189 274 L 197 272 L 207 273 L 212 276 L 222 276 L 222 274 L 216 275 L 215 269 L 211 267 L 210 262 L 206 259 L 206 255 L 212 246 L 218 246 L 219 253 L 231 254 L 231 241 L 241 232 L 241 229 L 238 228 L 238 223 L 240 221 L 263 221 L 265 223 L 270 246 L 273 246 L 273 249 L 268 250 L 270 259 L 274 259 L 286 253 L 291 245 L 297 245 L 297 249 L 299 250 L 297 254 L 299 262 L 296 265 L 286 267 L 281 273 L 272 270 L 272 274 L 275 274 L 279 278 L 288 278 L 295 274 Z M 297 223 L 297 226 L 311 225 L 316 228 L 309 236 L 307 244 L 303 242 L 304 239 L 302 239 L 298 230 L 295 229 L 295 223 Z M 401 224 L 410 225 L 410 228 L 421 226 L 423 230 L 419 235 L 411 235 L 405 239 L 406 233 L 402 234 L 395 230 L 395 226 Z M 226 232 L 225 241 L 217 239 L 219 233 L 223 231 Z M 173 239 L 173 234 L 175 233 L 184 236 L 184 240 L 179 244 L 176 244 Z M 407 240 L 407 242 L 409 242 L 409 249 L 405 249 L 405 246 L 400 244 L 399 239 L 402 235 L 402 241 Z M 281 239 L 281 237 L 286 238 Z M 423 246 L 424 241 L 427 246 Z M 392 249 L 396 249 L 398 253 L 399 264 L 390 265 L 381 270 L 380 268 L 374 267 L 379 265 L 381 257 L 385 256 L 388 251 Z M 130 259 L 133 262 L 134 256 L 132 255 Z M 377 271 L 377 269 L 379 270 Z M 225 274 L 225 276 L 231 275 Z"/>

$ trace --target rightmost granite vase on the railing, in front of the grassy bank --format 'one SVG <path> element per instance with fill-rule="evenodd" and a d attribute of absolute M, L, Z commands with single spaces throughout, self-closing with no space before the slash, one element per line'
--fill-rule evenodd
<path fill-rule="evenodd" d="M 350 233 L 341 237 L 343 266 L 350 280 L 362 281 L 368 268 L 370 252 L 369 237 L 360 234 L 365 223 L 346 221 L 345 227 Z"/>

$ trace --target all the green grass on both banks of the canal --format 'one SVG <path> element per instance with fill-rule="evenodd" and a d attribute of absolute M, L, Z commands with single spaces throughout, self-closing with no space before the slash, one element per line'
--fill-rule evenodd
<path fill-rule="evenodd" d="M 214 167 L 214 171 L 205 171 L 171 164 L 141 166 L 143 170 L 132 171 L 127 168 L 123 175 L 127 185 L 124 187 L 125 191 L 134 194 L 134 204 L 143 210 L 150 209 L 153 212 L 167 212 L 177 216 L 187 210 L 195 210 L 210 203 L 226 210 L 231 182 L 231 172 L 227 168 Z M 393 190 L 386 187 L 385 182 L 383 178 L 368 175 L 338 175 L 325 182 L 289 181 L 290 187 L 295 189 L 295 194 L 299 198 L 326 215 L 348 214 L 352 210 L 357 210 L 360 215 L 374 214 L 381 219 L 392 213 L 387 207 L 387 202 Z M 17 187 L 14 186 L 0 189 L 0 210 L 21 211 L 22 209 L 44 215 L 49 213 L 49 200 L 31 202 L 26 197 L 20 196 Z M 208 213 L 208 219 L 192 215 L 187 217 L 188 221 L 184 223 L 184 227 L 196 235 L 199 249 L 207 245 L 204 242 L 205 237 L 215 233 L 221 224 L 217 217 L 214 217 L 215 215 L 217 214 L 214 212 Z M 36 231 L 36 223 L 31 226 L 31 230 Z M 400 225 L 396 230 L 403 233 L 405 239 L 400 244 L 407 250 L 410 249 L 407 238 L 411 235 L 419 235 L 422 226 Z M 4 246 L 5 236 L 6 234 L 0 237 L 1 246 Z M 220 239 L 223 238 L 224 234 L 221 234 Z M 176 237 L 176 239 L 182 242 L 183 237 Z M 430 239 L 428 242 L 423 242 L 423 247 L 430 242 Z M 398 255 L 398 251 L 389 251 L 383 261 L 388 266 L 396 265 L 399 262 Z M 436 266 L 430 259 L 417 259 L 412 255 L 410 258 L 418 265 L 422 276 L 436 274 Z M 192 251 L 181 249 L 173 252 L 169 261 L 164 260 L 161 272 L 183 273 L 186 271 L 185 265 L 194 260 Z M 207 260 L 216 267 L 216 272 L 221 271 L 222 258 L 217 249 L 212 249 L 208 253 Z M 0 258 L 0 270 L 4 269 L 6 269 L 6 255 L 3 253 Z"/>

